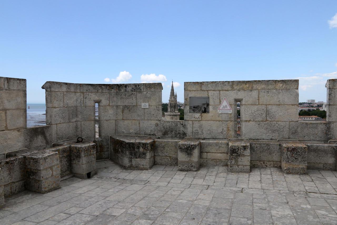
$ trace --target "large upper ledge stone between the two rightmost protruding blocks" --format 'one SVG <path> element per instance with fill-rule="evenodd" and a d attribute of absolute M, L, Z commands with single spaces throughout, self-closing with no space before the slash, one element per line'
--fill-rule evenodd
<path fill-rule="evenodd" d="M 250 160 L 252 161 L 281 161 L 279 143 L 250 142 Z"/>

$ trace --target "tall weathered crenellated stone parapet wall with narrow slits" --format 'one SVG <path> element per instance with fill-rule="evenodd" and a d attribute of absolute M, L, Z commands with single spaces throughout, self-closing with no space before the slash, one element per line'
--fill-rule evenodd
<path fill-rule="evenodd" d="M 337 139 L 337 79 L 328 80 L 326 87 L 328 111 L 323 123 L 298 122 L 298 80 L 185 82 L 185 120 L 165 121 L 161 120 L 161 83 L 47 81 L 42 86 L 47 126 L 26 128 L 26 80 L 0 77 L 0 158 L 8 151 L 41 150 L 78 136 L 97 143 L 97 159 L 109 157 L 109 135 L 115 134 L 235 138 L 236 102 L 241 102 L 242 138 L 328 141 Z M 189 113 L 192 96 L 209 97 L 210 113 Z M 217 113 L 223 98 L 231 104 L 232 114 Z M 99 138 L 95 138 L 95 103 L 99 105 Z M 142 108 L 142 103 L 149 103 L 149 108 Z M 222 157 L 211 153 L 202 154 L 202 163 Z M 176 159 L 170 160 L 174 164 Z"/>

